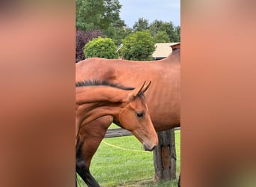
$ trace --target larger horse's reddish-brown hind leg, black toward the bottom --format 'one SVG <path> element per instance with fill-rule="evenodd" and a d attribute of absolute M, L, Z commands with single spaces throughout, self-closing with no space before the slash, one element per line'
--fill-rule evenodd
<path fill-rule="evenodd" d="M 76 144 L 76 172 L 89 187 L 99 186 L 91 175 L 91 159 L 113 121 L 113 117 L 100 117 L 80 129 L 79 142 Z"/>

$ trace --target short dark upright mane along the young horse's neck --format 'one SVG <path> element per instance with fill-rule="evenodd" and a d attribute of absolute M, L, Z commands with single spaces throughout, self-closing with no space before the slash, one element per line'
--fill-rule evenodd
<path fill-rule="evenodd" d="M 84 80 L 81 82 L 76 82 L 76 87 L 83 87 L 83 86 L 110 86 L 113 88 L 119 88 L 126 91 L 132 91 L 135 88 L 132 87 L 126 87 L 118 84 L 114 84 L 108 81 L 98 81 L 98 80 Z"/>

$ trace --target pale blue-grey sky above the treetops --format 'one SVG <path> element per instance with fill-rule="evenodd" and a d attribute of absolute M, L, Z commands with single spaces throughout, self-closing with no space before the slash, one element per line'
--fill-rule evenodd
<path fill-rule="evenodd" d="M 180 0 L 119 0 L 122 4 L 120 17 L 132 28 L 138 18 L 143 17 L 149 23 L 154 20 L 173 22 L 180 25 Z"/>

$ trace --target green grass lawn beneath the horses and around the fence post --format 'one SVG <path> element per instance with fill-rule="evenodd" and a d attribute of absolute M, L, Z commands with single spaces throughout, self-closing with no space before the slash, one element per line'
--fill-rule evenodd
<path fill-rule="evenodd" d="M 115 126 L 111 126 L 115 128 Z M 177 177 L 180 174 L 180 130 L 175 131 Z M 153 152 L 143 150 L 132 135 L 104 138 L 91 162 L 91 174 L 100 186 L 177 186 L 177 180 L 153 181 Z M 78 177 L 79 178 L 79 177 Z M 85 183 L 79 183 L 86 186 Z"/>

